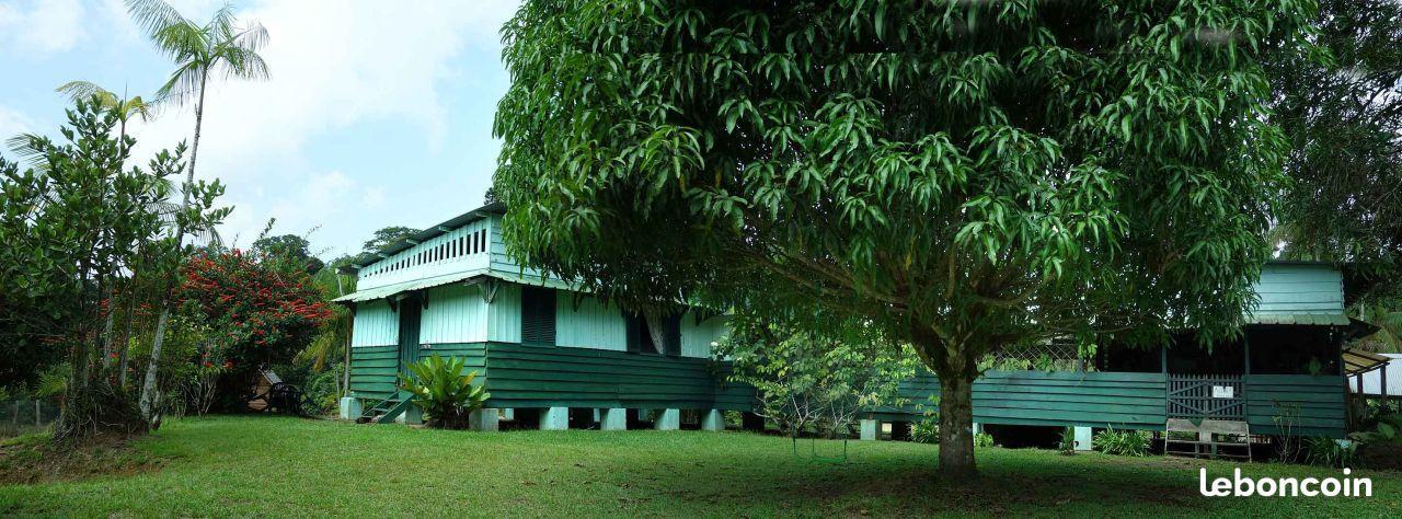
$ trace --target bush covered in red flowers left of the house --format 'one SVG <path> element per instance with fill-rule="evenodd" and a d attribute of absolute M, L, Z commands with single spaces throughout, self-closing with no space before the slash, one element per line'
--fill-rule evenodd
<path fill-rule="evenodd" d="M 210 330 L 224 369 L 287 362 L 331 317 L 306 271 L 237 248 L 192 257 L 179 297 Z"/>

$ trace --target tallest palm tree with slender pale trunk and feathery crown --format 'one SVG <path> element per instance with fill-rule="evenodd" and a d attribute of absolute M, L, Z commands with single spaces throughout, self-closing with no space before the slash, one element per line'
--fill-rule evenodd
<path fill-rule="evenodd" d="M 175 62 L 175 72 L 156 94 L 175 104 L 195 104 L 195 139 L 191 143 L 185 184 L 195 184 L 195 160 L 199 157 L 199 132 L 205 121 L 205 90 L 213 79 L 268 79 L 268 65 L 258 50 L 268 42 L 268 29 L 251 21 L 240 25 L 234 7 L 224 4 L 203 25 L 186 20 L 164 0 L 126 0 L 126 10 L 161 53 Z M 189 206 L 189 189 L 182 208 Z M 185 229 L 177 224 L 175 244 L 184 247 Z M 156 397 L 156 372 L 170 318 L 170 297 L 164 297 L 156 320 L 151 362 L 142 383 L 142 415 L 151 419 Z"/>

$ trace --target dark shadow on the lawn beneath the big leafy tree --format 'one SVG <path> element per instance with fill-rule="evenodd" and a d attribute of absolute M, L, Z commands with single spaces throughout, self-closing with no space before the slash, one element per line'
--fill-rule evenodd
<path fill-rule="evenodd" d="M 667 499 L 754 515 L 1183 513 L 1206 506 L 1196 471 L 1186 467 L 1001 449 L 980 456 L 980 476 L 967 481 L 937 477 L 932 449 L 857 450 L 841 464 L 802 461 L 787 449 L 679 456 L 642 470 L 620 463 L 608 467 L 606 480 L 635 501 L 625 506 Z"/>

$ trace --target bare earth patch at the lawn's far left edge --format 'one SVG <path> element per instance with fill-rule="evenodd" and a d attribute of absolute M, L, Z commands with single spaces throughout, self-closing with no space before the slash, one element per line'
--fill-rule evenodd
<path fill-rule="evenodd" d="M 132 446 L 132 436 L 100 435 L 81 445 L 55 445 L 48 435 L 0 443 L 0 485 L 132 476 L 158 470 L 164 459 Z"/>

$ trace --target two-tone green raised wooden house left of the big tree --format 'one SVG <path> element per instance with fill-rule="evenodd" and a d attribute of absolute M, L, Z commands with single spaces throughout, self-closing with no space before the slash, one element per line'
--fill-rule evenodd
<path fill-rule="evenodd" d="M 336 299 L 355 313 L 343 415 L 414 419 L 395 375 L 428 355 L 461 356 L 478 372 L 491 393 L 474 419 L 484 429 L 498 417 L 545 429 L 672 429 L 683 411 L 719 429 L 721 411 L 750 408 L 751 393 L 722 383 L 711 360 L 723 316 L 687 311 L 649 327 L 523 269 L 502 244 L 502 212 L 488 205 L 460 215 L 342 271 L 356 276 L 356 292 Z"/>

